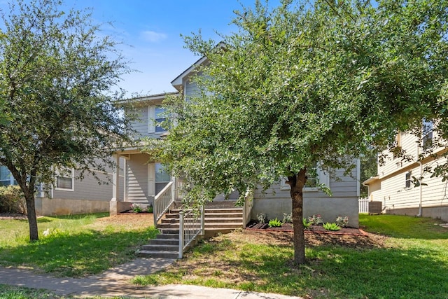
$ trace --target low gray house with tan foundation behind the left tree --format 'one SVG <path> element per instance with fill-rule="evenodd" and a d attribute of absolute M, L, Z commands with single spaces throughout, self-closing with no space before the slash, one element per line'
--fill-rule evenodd
<path fill-rule="evenodd" d="M 111 181 L 112 172 L 98 174 L 103 181 Z M 59 174 L 49 194 L 36 193 L 36 214 L 39 216 L 85 214 L 109 211 L 112 197 L 111 185 L 99 183 L 90 174 L 81 181 L 73 169 Z M 108 179 L 109 178 L 109 179 Z M 17 182 L 5 166 L 0 166 L 0 186 L 15 185 Z M 123 186 L 121 186 L 123 188 Z M 123 197 L 120 197 L 123 198 Z"/>

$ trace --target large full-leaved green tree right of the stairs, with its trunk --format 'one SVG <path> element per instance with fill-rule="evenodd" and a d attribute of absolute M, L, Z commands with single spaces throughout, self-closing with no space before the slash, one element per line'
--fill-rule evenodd
<path fill-rule="evenodd" d="M 224 46 L 186 38 L 208 58 L 199 92 L 172 99 L 162 158 L 190 195 L 269 186 L 287 177 L 294 260 L 304 263 L 302 190 L 318 163 L 351 169 L 396 132 L 440 115 L 447 78 L 444 0 L 282 1 L 236 11 Z M 193 197 L 192 197 L 193 198 Z"/>

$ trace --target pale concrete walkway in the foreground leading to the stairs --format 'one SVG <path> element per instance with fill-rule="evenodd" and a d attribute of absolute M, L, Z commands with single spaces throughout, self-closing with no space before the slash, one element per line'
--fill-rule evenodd
<path fill-rule="evenodd" d="M 134 286 L 129 280 L 137 275 L 154 273 L 174 262 L 164 258 L 137 258 L 130 263 L 107 270 L 86 278 L 61 278 L 49 274 L 37 274 L 28 269 L 0 267 L 0 284 L 26 286 L 27 288 L 45 288 L 58 295 L 79 297 L 116 297 L 128 298 L 182 298 L 182 299 L 286 299 L 290 297 L 271 293 L 237 291 L 229 288 L 208 288 L 205 286 L 187 286 L 169 284 L 166 286 Z"/>

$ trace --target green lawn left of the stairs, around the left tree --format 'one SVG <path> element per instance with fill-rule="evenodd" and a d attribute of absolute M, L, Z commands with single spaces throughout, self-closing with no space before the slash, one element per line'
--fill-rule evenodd
<path fill-rule="evenodd" d="M 29 242 L 26 220 L 0 221 L 0 265 L 25 265 L 61 277 L 98 274 L 134 258 L 157 235 L 155 228 L 132 228 L 98 221 L 107 214 L 38 218 L 40 239 Z M 43 236 L 48 230 L 50 235 Z"/>

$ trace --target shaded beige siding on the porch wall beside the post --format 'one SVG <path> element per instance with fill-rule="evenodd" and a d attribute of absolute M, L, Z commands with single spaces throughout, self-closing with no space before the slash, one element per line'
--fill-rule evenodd
<path fill-rule="evenodd" d="M 148 155 L 131 155 L 127 160 L 126 195 L 128 202 L 148 203 Z"/>

